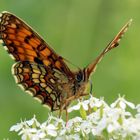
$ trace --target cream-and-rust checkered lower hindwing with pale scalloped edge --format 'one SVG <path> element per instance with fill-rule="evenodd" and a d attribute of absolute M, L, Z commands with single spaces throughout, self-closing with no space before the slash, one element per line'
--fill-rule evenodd
<path fill-rule="evenodd" d="M 29 61 L 17 62 L 12 69 L 16 82 L 25 91 L 37 97 L 43 104 L 47 104 L 52 110 L 60 108 L 62 84 L 64 81 L 68 82 L 62 73 Z"/>

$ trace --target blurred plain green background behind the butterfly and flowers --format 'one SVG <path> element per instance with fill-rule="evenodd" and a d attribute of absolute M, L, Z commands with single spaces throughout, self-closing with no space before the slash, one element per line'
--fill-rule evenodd
<path fill-rule="evenodd" d="M 96 97 L 108 103 L 120 93 L 140 102 L 140 1 L 138 0 L 0 0 L 32 26 L 60 55 L 83 68 L 110 42 L 121 27 L 133 23 L 120 43 L 105 56 L 92 76 Z M 21 118 L 47 119 L 48 110 L 25 94 L 11 74 L 13 60 L 0 47 L 0 139 L 16 139 L 9 128 Z"/>

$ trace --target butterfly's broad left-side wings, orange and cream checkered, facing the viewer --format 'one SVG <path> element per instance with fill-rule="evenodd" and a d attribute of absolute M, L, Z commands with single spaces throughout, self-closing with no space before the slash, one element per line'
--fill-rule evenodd
<path fill-rule="evenodd" d="M 61 85 L 72 76 L 63 58 L 15 15 L 3 12 L 0 20 L 3 46 L 17 62 L 12 68 L 17 83 L 52 110 L 59 109 Z"/>

